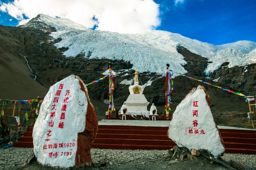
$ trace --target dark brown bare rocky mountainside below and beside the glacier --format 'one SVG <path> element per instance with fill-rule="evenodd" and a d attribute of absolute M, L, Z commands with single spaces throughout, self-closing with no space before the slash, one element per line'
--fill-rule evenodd
<path fill-rule="evenodd" d="M 39 28 L 38 25 L 41 27 Z M 112 70 L 116 72 L 114 103 L 116 110 L 120 109 L 129 95 L 129 85 L 123 82 L 133 79 L 134 70 L 131 69 L 133 64 L 130 61 L 115 58 L 112 60 L 90 59 L 90 54 L 86 57 L 83 53 L 76 57 L 65 57 L 63 52 L 68 48 L 54 46 L 62 39 L 52 39 L 50 36 L 50 33 L 55 31 L 54 27 L 37 20 L 23 27 L 0 25 L 0 70 L 2 73 L 0 98 L 26 100 L 36 98 L 36 96 L 43 97 L 51 85 L 71 74 L 78 75 L 84 83 L 89 83 L 103 77 L 105 74 L 102 73 L 108 69 L 108 62 L 111 62 Z M 210 78 L 205 78 L 204 70 L 211 63 L 209 60 L 191 53 L 181 45 L 177 46 L 177 51 L 187 62 L 183 66 L 188 72 L 186 75 L 226 89 L 239 91 L 245 95 L 255 95 L 256 64 L 228 68 L 228 63 L 224 62 L 220 69 L 209 75 Z M 35 76 L 36 81 L 33 80 Z M 217 124 L 252 128 L 246 118 L 249 109 L 243 97 L 184 76 L 177 76 L 177 74 L 175 76 L 171 113 L 188 92 L 200 84 L 210 95 L 211 108 Z M 148 110 L 151 104 L 155 103 L 158 112 L 162 111 L 165 104 L 165 77 L 150 72 L 140 73 L 139 77 L 146 86 L 144 94 L 150 102 Z M 213 81 L 215 79 L 218 79 L 218 82 Z M 108 99 L 108 79 L 101 80 L 87 88 L 98 119 L 104 119 L 105 111 L 108 109 L 108 104 L 103 102 Z"/>

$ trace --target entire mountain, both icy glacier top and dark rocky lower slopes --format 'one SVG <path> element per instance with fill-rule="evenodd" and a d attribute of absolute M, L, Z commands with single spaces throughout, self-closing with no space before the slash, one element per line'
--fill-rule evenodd
<path fill-rule="evenodd" d="M 148 110 L 154 103 L 158 112 L 162 111 L 167 62 L 170 69 L 189 77 L 244 95 L 256 94 L 256 44 L 252 41 L 214 46 L 157 30 L 140 34 L 93 31 L 68 19 L 40 14 L 19 27 L 0 25 L 0 53 L 2 99 L 44 97 L 47 88 L 71 74 L 85 84 L 93 82 L 107 74 L 108 62 L 115 72 L 116 110 L 129 96 L 128 87 L 138 69 L 139 81 L 145 86 L 143 94 L 150 102 Z M 222 124 L 223 112 L 238 115 L 239 121 L 247 117 L 248 103 L 243 97 L 185 76 L 173 77 L 171 114 L 192 88 L 203 85 L 211 97 L 215 121 Z M 87 88 L 98 118 L 105 118 L 108 79 Z"/>

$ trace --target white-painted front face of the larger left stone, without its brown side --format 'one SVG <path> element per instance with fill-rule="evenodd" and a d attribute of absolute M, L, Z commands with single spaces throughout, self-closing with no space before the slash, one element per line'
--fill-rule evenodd
<path fill-rule="evenodd" d="M 62 89 L 61 84 L 63 84 Z M 37 161 L 43 165 L 75 166 L 77 133 L 85 129 L 88 105 L 85 93 L 80 88 L 79 79 L 70 75 L 54 84 L 44 98 L 33 129 L 34 153 Z M 59 96 L 58 90 L 61 91 Z M 59 97 L 58 102 L 56 97 Z M 68 97 L 67 102 L 65 102 L 66 97 Z M 59 126 L 61 122 L 64 124 L 63 128 Z"/>

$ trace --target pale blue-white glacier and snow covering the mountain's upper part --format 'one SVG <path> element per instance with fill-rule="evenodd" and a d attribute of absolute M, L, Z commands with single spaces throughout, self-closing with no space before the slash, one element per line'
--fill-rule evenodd
<path fill-rule="evenodd" d="M 139 72 L 164 74 L 165 65 L 169 63 L 170 69 L 187 73 L 183 67 L 186 61 L 177 52 L 177 46 L 183 46 L 211 62 L 204 71 L 206 76 L 220 68 L 224 62 L 229 63 L 229 68 L 256 63 L 256 43 L 252 41 L 243 40 L 215 46 L 166 31 L 120 34 L 90 30 L 69 19 L 52 18 L 44 14 L 40 14 L 36 20 L 56 28 L 57 31 L 50 35 L 53 39 L 62 39 L 54 46 L 67 48 L 63 53 L 66 57 L 82 54 L 89 59 L 130 61 L 132 69 L 137 68 Z"/>

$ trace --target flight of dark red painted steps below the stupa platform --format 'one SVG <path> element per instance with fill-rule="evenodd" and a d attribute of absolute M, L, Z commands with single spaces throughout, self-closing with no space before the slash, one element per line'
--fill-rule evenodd
<path fill-rule="evenodd" d="M 92 148 L 167 150 L 176 144 L 167 137 L 169 127 L 99 125 Z M 32 130 L 24 133 L 14 147 L 33 147 Z M 226 153 L 256 154 L 256 131 L 220 129 Z"/>

